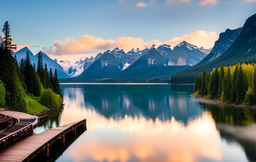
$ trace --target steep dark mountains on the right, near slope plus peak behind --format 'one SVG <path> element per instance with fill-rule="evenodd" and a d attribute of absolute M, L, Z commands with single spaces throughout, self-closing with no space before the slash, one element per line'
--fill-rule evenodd
<path fill-rule="evenodd" d="M 249 17 L 242 28 L 221 33 L 210 54 L 196 66 L 173 74 L 171 84 L 193 84 L 203 69 L 210 72 L 222 64 L 238 63 L 256 63 L 256 14 Z"/>

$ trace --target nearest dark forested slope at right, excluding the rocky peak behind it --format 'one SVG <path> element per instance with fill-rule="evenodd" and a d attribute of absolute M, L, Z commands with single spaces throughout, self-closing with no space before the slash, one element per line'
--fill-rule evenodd
<path fill-rule="evenodd" d="M 173 74 L 171 84 L 193 84 L 197 74 L 203 69 L 210 72 L 212 68 L 220 67 L 221 64 L 229 66 L 238 63 L 256 63 L 256 14 L 246 20 L 240 35 L 224 54 L 206 64 Z"/>

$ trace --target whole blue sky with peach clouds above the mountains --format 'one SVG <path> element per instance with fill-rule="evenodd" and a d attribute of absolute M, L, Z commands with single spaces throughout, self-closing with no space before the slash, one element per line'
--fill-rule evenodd
<path fill-rule="evenodd" d="M 255 13 L 256 0 L 13 0 L 1 2 L 0 24 L 9 22 L 17 50 L 74 62 L 115 47 L 210 48 Z"/>

